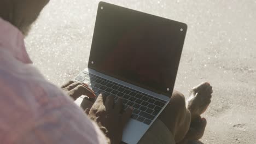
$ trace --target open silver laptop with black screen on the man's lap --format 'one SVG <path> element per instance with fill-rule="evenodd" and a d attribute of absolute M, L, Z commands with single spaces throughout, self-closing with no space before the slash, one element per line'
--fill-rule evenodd
<path fill-rule="evenodd" d="M 133 107 L 124 143 L 138 143 L 171 98 L 187 25 L 100 2 L 88 68 L 75 81 Z M 83 98 L 76 103 L 79 105 Z"/>

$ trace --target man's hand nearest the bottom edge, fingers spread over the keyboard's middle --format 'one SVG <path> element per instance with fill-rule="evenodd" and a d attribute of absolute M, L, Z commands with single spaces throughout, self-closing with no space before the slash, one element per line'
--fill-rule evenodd
<path fill-rule="evenodd" d="M 123 129 L 132 114 L 132 107 L 121 113 L 122 110 L 123 99 L 118 98 L 117 103 L 114 103 L 112 95 L 106 97 L 104 94 L 100 94 L 89 111 L 88 116 L 98 124 L 111 144 L 121 142 Z"/>

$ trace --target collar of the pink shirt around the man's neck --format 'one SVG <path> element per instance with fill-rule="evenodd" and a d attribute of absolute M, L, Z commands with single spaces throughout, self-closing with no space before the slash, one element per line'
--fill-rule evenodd
<path fill-rule="evenodd" d="M 11 53 L 18 61 L 32 63 L 24 44 L 24 35 L 18 28 L 0 17 L 0 49 Z"/>

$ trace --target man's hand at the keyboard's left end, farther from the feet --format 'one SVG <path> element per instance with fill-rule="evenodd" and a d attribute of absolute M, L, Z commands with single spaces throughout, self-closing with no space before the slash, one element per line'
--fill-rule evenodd
<path fill-rule="evenodd" d="M 96 98 L 94 91 L 92 91 L 85 83 L 69 81 L 61 87 L 74 100 L 81 95 L 86 95 L 89 98 Z"/>

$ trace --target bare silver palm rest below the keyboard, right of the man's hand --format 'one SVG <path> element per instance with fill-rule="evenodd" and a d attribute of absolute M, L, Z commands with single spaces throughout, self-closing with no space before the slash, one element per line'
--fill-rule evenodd
<path fill-rule="evenodd" d="M 123 131 L 122 141 L 128 144 L 136 144 L 148 130 L 149 125 L 130 118 Z"/>

